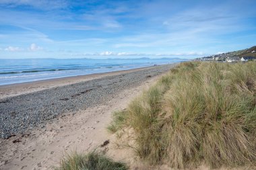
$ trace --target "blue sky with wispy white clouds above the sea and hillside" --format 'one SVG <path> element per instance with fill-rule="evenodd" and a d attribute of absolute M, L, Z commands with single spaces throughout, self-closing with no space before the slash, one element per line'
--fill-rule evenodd
<path fill-rule="evenodd" d="M 255 0 L 0 0 L 0 58 L 194 58 L 256 45 Z"/>

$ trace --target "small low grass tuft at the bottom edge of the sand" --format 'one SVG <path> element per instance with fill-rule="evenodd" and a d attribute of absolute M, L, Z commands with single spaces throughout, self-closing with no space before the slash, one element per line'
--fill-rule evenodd
<path fill-rule="evenodd" d="M 127 170 L 125 163 L 114 162 L 96 151 L 84 154 L 71 153 L 61 159 L 61 166 L 56 170 Z"/>

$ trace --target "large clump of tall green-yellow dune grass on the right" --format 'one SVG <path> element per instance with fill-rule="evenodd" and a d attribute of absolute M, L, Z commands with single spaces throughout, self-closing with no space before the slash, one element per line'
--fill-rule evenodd
<path fill-rule="evenodd" d="M 131 128 L 132 147 L 152 165 L 255 167 L 255 105 L 256 62 L 185 62 L 112 126 Z"/>

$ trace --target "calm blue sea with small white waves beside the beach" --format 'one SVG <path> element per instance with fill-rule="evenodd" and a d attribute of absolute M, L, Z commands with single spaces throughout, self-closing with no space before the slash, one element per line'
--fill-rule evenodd
<path fill-rule="evenodd" d="M 89 75 L 183 62 L 179 58 L 139 59 L 0 59 L 0 85 Z"/>

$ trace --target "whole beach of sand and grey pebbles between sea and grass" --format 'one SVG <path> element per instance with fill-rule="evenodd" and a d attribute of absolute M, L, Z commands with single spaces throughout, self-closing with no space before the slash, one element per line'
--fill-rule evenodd
<path fill-rule="evenodd" d="M 90 151 L 106 140 L 108 155 L 133 162 L 127 151 L 115 151 L 115 136 L 106 132 L 111 113 L 172 67 L 0 87 L 0 169 L 51 169 L 65 153 Z"/>

